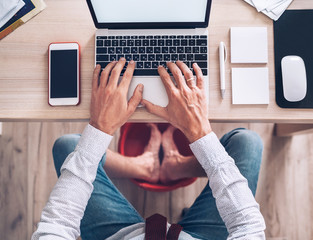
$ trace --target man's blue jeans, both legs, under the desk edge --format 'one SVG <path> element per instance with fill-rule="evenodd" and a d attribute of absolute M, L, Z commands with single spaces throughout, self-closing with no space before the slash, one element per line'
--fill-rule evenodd
<path fill-rule="evenodd" d="M 58 176 L 64 160 L 74 151 L 79 138 L 80 135 L 71 134 L 55 142 L 53 158 Z M 255 195 L 262 160 L 262 140 L 255 132 L 235 129 L 225 134 L 220 141 L 235 160 L 241 174 L 247 178 L 249 188 Z M 104 163 L 105 155 L 99 164 L 93 183 L 94 191 L 81 221 L 83 240 L 104 240 L 124 227 L 144 221 L 108 178 L 103 169 Z M 185 232 L 199 239 L 221 240 L 228 236 L 209 184 L 179 224 Z"/>

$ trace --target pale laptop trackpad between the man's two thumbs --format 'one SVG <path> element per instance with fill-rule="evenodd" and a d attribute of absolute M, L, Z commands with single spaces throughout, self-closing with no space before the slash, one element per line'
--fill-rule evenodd
<path fill-rule="evenodd" d="M 168 97 L 160 77 L 133 77 L 128 91 L 128 99 L 134 93 L 134 90 L 138 84 L 142 83 L 144 85 L 143 89 L 143 99 L 152 102 L 153 104 L 159 105 L 161 107 L 166 107 L 168 105 Z"/>

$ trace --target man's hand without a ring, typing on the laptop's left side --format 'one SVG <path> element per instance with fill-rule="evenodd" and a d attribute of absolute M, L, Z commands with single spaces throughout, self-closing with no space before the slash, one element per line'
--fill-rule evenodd
<path fill-rule="evenodd" d="M 142 99 L 143 85 L 140 84 L 129 102 L 127 101 L 136 64 L 134 61 L 129 62 L 122 81 L 118 84 L 124 65 L 125 58 L 109 63 L 101 72 L 100 83 L 100 65 L 96 66 L 93 73 L 90 124 L 110 135 L 128 120 Z"/>

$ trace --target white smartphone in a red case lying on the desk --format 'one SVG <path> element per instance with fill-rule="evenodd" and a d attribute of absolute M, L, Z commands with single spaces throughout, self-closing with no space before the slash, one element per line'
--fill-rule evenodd
<path fill-rule="evenodd" d="M 80 102 L 79 44 L 49 45 L 49 104 L 78 105 Z"/>

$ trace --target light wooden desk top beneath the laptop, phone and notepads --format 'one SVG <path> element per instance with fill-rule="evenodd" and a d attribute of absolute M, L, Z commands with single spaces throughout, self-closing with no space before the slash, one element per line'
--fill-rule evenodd
<path fill-rule="evenodd" d="M 85 0 L 45 0 L 47 8 L 0 41 L 0 120 L 86 120 L 89 118 L 91 76 L 94 67 L 94 35 Z M 311 0 L 295 0 L 290 8 L 313 8 Z M 229 51 L 231 26 L 265 26 L 269 41 L 270 104 L 231 104 L 231 67 L 226 64 L 226 98 L 219 85 L 218 45 Z M 210 119 L 220 122 L 313 123 L 313 110 L 281 109 L 275 102 L 273 23 L 243 0 L 213 0 L 210 24 Z M 48 101 L 48 45 L 78 41 L 81 45 L 81 104 L 50 107 Z M 265 66 L 253 65 L 253 66 Z M 160 121 L 144 109 L 131 121 Z"/>

